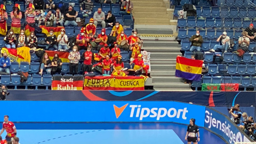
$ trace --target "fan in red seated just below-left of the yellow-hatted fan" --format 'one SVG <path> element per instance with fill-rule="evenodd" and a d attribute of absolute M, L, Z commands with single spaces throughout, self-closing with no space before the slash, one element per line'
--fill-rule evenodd
<path fill-rule="evenodd" d="M 87 50 L 87 42 L 89 42 L 89 37 L 85 35 L 85 27 L 82 27 L 80 34 L 76 36 L 76 43 L 78 44 L 78 50 Z"/>

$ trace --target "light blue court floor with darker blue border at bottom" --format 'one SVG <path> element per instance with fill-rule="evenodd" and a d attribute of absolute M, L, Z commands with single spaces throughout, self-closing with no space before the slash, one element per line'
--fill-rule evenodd
<path fill-rule="evenodd" d="M 187 143 L 185 141 L 187 126 L 174 123 L 17 123 L 15 125 L 21 144 Z M 199 132 L 201 141 L 198 143 L 225 143 L 209 131 L 200 128 Z M 3 133 L 2 136 L 5 134 Z"/>

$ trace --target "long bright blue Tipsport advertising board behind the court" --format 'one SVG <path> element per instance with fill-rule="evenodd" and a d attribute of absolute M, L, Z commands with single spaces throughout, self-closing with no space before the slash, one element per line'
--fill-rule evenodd
<path fill-rule="evenodd" d="M 0 101 L 13 122 L 175 122 L 204 126 L 205 107 L 174 101 Z M 15 107 L 10 107 L 15 106 Z M 15 113 L 13 112 L 15 111 Z"/>

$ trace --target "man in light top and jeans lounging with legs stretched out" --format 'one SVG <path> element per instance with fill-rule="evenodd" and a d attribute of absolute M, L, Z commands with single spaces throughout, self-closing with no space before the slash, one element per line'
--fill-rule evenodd
<path fill-rule="evenodd" d="M 215 51 L 224 51 L 227 52 L 229 45 L 230 45 L 230 38 L 227 36 L 226 32 L 223 32 L 222 35 L 217 39 L 217 42 L 220 42 L 222 45 L 215 45 L 213 49 L 210 50 L 210 52 Z"/>

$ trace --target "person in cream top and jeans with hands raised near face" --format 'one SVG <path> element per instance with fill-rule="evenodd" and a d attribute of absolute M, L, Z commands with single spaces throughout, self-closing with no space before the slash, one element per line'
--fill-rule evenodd
<path fill-rule="evenodd" d="M 66 35 L 66 31 L 65 29 L 61 29 L 60 30 L 60 35 L 58 35 L 57 38 L 57 43 L 59 43 L 58 45 L 58 50 L 67 50 L 68 51 L 68 36 Z"/>

